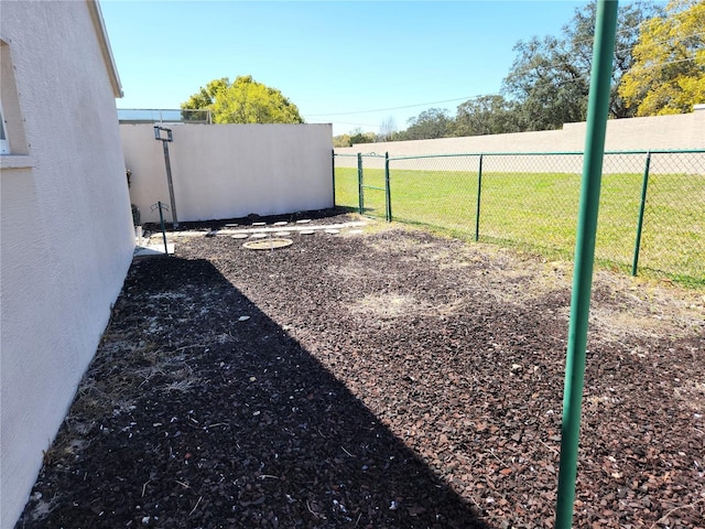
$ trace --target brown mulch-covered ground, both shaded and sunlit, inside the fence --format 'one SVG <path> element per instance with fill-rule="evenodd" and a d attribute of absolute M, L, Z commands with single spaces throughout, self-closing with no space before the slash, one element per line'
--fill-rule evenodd
<path fill-rule="evenodd" d="M 552 527 L 570 266 L 291 238 L 133 263 L 19 528 Z M 598 272 L 593 314 L 575 527 L 705 527 L 704 293 Z"/>

